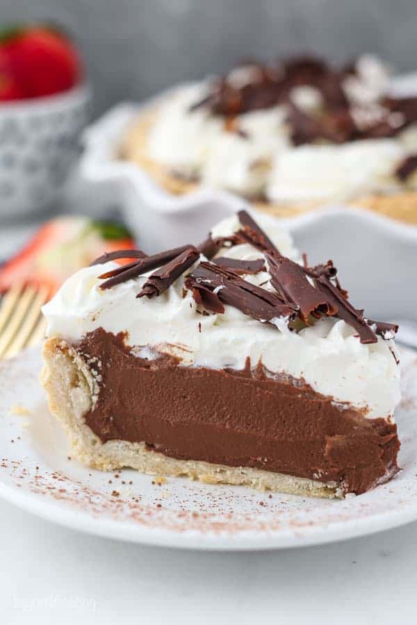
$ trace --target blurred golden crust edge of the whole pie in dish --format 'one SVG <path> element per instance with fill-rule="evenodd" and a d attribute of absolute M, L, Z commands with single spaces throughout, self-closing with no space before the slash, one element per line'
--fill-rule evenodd
<path fill-rule="evenodd" d="M 141 113 L 135 122 L 129 126 L 122 138 L 118 156 L 124 160 L 136 163 L 161 185 L 165 191 L 174 195 L 183 195 L 194 191 L 198 183 L 174 176 L 166 167 L 149 158 L 147 152 L 147 137 L 154 119 L 156 110 L 153 108 Z M 274 204 L 265 201 L 254 201 L 254 206 L 275 217 L 295 217 L 303 213 L 310 213 L 322 202 L 304 201 L 297 204 Z M 417 224 L 417 192 L 404 190 L 391 194 L 370 194 L 359 197 L 350 203 L 352 208 L 366 208 L 375 213 L 397 219 L 407 224 Z"/>

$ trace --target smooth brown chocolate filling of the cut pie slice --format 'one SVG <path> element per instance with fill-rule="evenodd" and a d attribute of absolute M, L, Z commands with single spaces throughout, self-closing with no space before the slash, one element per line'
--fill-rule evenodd
<path fill-rule="evenodd" d="M 357 494 L 398 471 L 395 424 L 249 360 L 242 371 L 179 366 L 163 354 L 148 360 L 103 328 L 75 347 L 101 361 L 85 422 L 102 442 L 146 442 L 172 458 L 334 481 Z"/>

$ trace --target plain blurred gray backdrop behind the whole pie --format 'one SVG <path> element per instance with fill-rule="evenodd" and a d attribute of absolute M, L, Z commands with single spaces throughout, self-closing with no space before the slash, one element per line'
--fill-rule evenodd
<path fill-rule="evenodd" d="M 95 113 L 243 56 L 375 51 L 416 69 L 416 0 L 0 0 L 1 22 L 55 19 L 75 33 Z"/>

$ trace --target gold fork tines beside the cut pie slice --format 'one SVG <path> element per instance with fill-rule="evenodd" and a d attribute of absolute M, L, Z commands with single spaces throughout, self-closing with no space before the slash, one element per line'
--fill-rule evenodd
<path fill-rule="evenodd" d="M 12 358 L 26 347 L 35 347 L 46 329 L 40 309 L 49 299 L 49 288 L 17 283 L 0 303 L 0 358 Z"/>

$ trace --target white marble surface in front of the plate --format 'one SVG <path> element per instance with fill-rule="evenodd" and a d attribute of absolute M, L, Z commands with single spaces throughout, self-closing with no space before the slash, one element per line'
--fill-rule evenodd
<path fill-rule="evenodd" d="M 0 501 L 4 625 L 415 624 L 417 524 L 327 545 L 197 553 L 124 544 Z"/>

